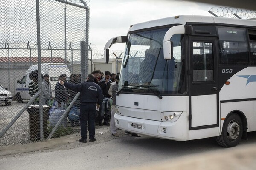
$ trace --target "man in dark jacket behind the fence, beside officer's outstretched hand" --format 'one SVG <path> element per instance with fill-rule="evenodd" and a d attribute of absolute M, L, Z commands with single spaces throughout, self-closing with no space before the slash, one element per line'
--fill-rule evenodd
<path fill-rule="evenodd" d="M 67 102 L 67 89 L 60 82 L 66 82 L 66 74 L 59 76 L 59 81 L 55 85 L 55 105 L 57 109 L 65 110 Z"/>

